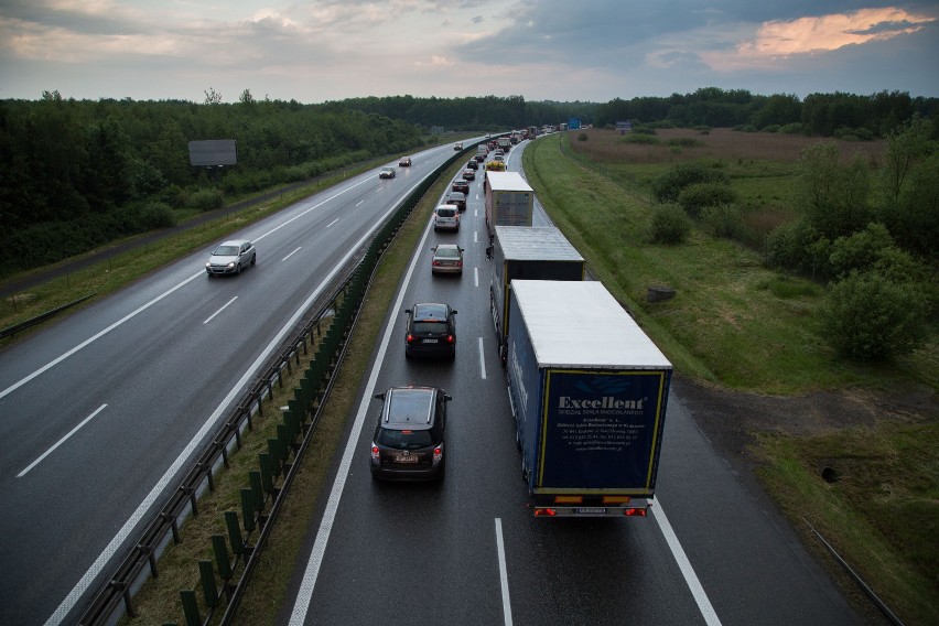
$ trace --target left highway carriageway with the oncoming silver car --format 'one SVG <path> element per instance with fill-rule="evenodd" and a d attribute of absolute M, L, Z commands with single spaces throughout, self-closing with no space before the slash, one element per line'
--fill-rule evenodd
<path fill-rule="evenodd" d="M 0 624 L 68 624 L 309 303 L 453 150 L 306 198 L 231 238 L 258 262 L 209 279 L 215 244 L 0 355 Z"/>

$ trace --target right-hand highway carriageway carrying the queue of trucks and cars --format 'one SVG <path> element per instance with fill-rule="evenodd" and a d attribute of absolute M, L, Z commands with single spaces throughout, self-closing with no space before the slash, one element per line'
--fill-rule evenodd
<path fill-rule="evenodd" d="M 522 144 L 524 148 L 525 143 Z M 518 170 L 521 149 L 509 153 Z M 489 315 L 490 261 L 482 183 L 458 234 L 428 225 L 389 312 L 337 476 L 306 537 L 292 605 L 279 624 L 849 625 L 860 619 L 765 498 L 753 494 L 669 399 L 650 518 L 535 519 Z M 539 209 L 536 225 L 547 217 Z M 432 277 L 427 250 L 457 241 L 461 278 Z M 403 309 L 458 311 L 457 356 L 406 359 Z M 370 476 L 380 403 L 396 385 L 443 387 L 449 403 L 443 484 Z"/>

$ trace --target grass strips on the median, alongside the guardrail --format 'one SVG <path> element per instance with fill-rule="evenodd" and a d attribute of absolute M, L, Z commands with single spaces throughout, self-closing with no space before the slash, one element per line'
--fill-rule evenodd
<path fill-rule="evenodd" d="M 339 444 L 347 435 L 348 421 L 357 408 L 363 378 L 373 361 L 374 348 L 388 315 L 388 303 L 393 300 L 436 199 L 443 194 L 450 177 L 461 169 L 462 163 L 455 164 L 441 182 L 431 187 L 381 258 L 349 338 L 346 357 L 334 374 L 334 387 L 328 401 L 241 598 L 235 624 L 273 624 L 284 607 L 289 609 L 287 594 L 291 576 L 301 553 L 310 548 L 306 541 L 317 504 L 321 498 L 328 496 L 326 478 Z M 312 349 L 310 354 L 313 354 Z M 301 360 L 291 379 L 284 379 L 283 390 L 277 390 L 274 399 L 268 402 L 268 414 L 278 413 L 277 408 L 285 404 L 303 369 L 304 361 Z M 258 452 L 266 450 L 267 438 L 273 436 L 266 432 L 274 430 L 276 425 L 277 420 L 265 420 L 262 427 L 256 427 L 256 432 L 246 438 L 242 451 L 230 456 L 231 467 L 222 471 L 215 478 L 216 492 L 199 499 L 199 516 L 190 518 L 183 526 L 183 542 L 172 546 L 160 559 L 159 579 L 148 581 L 134 596 L 139 616 L 133 619 L 125 616 L 122 624 L 156 626 L 173 619 L 183 623 L 180 591 L 195 589 L 201 597 L 197 562 L 201 559 L 213 559 L 211 537 L 226 532 L 224 511 L 240 511 L 239 492 L 248 486 L 247 473 L 257 468 Z M 257 538 L 257 532 L 253 538 Z M 203 606 L 204 618 L 206 614 Z M 220 613 L 215 615 L 212 623 L 217 624 L 219 618 Z"/>

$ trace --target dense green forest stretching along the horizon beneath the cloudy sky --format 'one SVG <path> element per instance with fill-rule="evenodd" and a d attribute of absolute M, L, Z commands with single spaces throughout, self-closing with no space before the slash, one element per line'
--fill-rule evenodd
<path fill-rule="evenodd" d="M 413 151 L 433 132 L 498 132 L 571 118 L 608 126 L 628 119 L 817 136 L 886 136 L 914 115 L 936 119 L 939 100 L 908 94 L 757 96 L 699 89 L 667 98 L 527 102 L 520 96 L 354 98 L 304 105 L 67 99 L 0 100 L 2 274 L 58 261 L 110 240 L 174 225 L 241 196 L 371 158 Z M 939 121 L 939 120 L 937 120 Z M 939 128 L 939 123 L 933 123 Z M 193 168 L 188 142 L 235 139 L 238 163 Z"/>

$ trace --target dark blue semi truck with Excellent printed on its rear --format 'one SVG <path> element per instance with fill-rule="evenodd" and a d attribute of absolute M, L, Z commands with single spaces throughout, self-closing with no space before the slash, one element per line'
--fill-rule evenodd
<path fill-rule="evenodd" d="M 672 366 L 596 281 L 514 280 L 509 402 L 536 517 L 645 517 Z"/>

